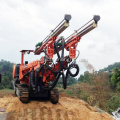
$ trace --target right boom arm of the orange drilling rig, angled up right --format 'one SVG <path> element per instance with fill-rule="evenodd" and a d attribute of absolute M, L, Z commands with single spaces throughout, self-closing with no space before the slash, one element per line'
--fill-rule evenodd
<path fill-rule="evenodd" d="M 75 30 L 73 34 L 65 39 L 65 49 L 69 51 L 69 58 L 75 58 L 77 43 L 80 42 L 82 36 L 86 35 L 88 32 L 97 27 L 99 20 L 100 16 L 95 15 L 93 19 L 80 27 L 78 30 Z M 59 51 L 60 50 L 61 48 L 59 48 Z"/>

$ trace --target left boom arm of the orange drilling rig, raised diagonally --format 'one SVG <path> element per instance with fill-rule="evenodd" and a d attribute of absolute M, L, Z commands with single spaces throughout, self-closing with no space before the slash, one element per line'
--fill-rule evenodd
<path fill-rule="evenodd" d="M 36 45 L 34 53 L 37 55 L 47 49 L 47 54 L 52 58 L 54 54 L 53 44 L 57 36 L 69 26 L 70 19 L 71 15 L 65 15 L 64 19 L 51 31 L 51 33 L 41 43 Z"/>

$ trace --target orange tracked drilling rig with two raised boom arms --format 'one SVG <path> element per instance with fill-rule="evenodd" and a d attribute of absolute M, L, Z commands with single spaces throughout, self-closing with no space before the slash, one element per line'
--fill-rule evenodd
<path fill-rule="evenodd" d="M 64 19 L 42 41 L 36 44 L 35 50 L 21 50 L 21 64 L 13 64 L 13 86 L 15 96 L 21 102 L 29 103 L 32 98 L 46 98 L 53 104 L 58 103 L 59 92 L 55 88 L 59 78 L 63 80 L 63 88 L 67 88 L 68 75 L 76 77 L 79 73 L 79 65 L 76 59 L 79 56 L 77 45 L 82 36 L 97 27 L 100 16 L 95 15 L 89 22 L 76 30 L 69 37 L 59 35 L 69 26 L 71 15 L 65 15 Z M 65 50 L 68 55 L 65 56 Z M 34 55 L 44 56 L 41 59 L 24 63 L 25 53 L 33 52 Z M 76 55 L 77 52 L 77 55 Z M 57 56 L 56 62 L 53 61 Z M 76 69 L 75 73 L 72 69 Z"/>

